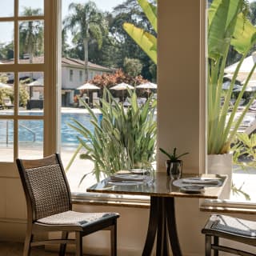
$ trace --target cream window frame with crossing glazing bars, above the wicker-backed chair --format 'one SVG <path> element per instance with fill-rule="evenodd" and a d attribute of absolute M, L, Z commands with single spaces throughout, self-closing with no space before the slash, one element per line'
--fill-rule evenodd
<path fill-rule="evenodd" d="M 0 18 L 1 22 L 14 21 L 14 64 L 0 66 L 2 73 L 14 73 L 14 114 L 1 115 L 1 119 L 14 120 L 14 159 L 18 158 L 18 121 L 19 120 L 42 120 L 44 122 L 43 134 L 43 156 L 53 154 L 57 151 L 57 72 L 58 62 L 57 38 L 59 37 L 58 28 L 58 0 L 44 0 L 44 14 L 40 16 L 18 16 L 18 0 L 14 0 L 14 17 Z M 26 20 L 44 21 L 44 63 L 20 64 L 18 56 L 18 22 Z M 18 73 L 24 72 L 43 72 L 44 82 L 44 114 L 42 116 L 22 116 L 18 114 Z M 18 172 L 15 162 L 0 162 L 0 174 L 2 177 L 17 177 Z"/>

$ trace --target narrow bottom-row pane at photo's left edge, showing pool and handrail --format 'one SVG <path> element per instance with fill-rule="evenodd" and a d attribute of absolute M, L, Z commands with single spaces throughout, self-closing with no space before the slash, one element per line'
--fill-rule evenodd
<path fill-rule="evenodd" d="M 14 162 L 14 121 L 0 120 L 0 162 Z"/>

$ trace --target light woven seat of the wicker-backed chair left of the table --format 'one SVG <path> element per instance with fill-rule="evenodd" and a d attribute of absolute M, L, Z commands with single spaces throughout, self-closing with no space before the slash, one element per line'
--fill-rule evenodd
<path fill-rule="evenodd" d="M 118 217 L 119 214 L 115 213 L 80 213 L 68 210 L 46 218 L 39 218 L 37 222 L 47 225 L 75 225 L 84 227 L 95 222 L 106 221 L 108 218 Z"/>

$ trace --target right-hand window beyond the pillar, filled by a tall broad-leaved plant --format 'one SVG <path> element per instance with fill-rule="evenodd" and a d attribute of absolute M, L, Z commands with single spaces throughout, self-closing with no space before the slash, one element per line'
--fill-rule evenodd
<path fill-rule="evenodd" d="M 215 5 L 211 6 L 211 2 Z M 230 9 L 225 9 L 228 14 L 221 14 L 223 6 L 216 5 L 218 1 L 206 1 L 206 6 L 211 8 L 208 33 L 208 59 L 207 71 L 208 84 L 208 171 L 219 173 L 224 170 L 224 166 L 217 169 L 212 167 L 215 163 L 213 154 L 218 154 L 218 158 L 229 158 L 230 162 L 230 194 L 226 194 L 226 199 L 233 202 L 256 202 L 254 184 L 256 182 L 256 166 L 254 160 L 254 136 L 255 131 L 255 56 L 252 54 L 254 40 L 250 40 L 252 34 L 248 34 L 248 43 L 243 41 L 242 30 L 246 33 L 249 27 L 254 25 L 254 1 L 250 1 L 250 15 L 242 14 L 238 8 L 237 13 L 233 13 L 234 31 L 229 26 L 225 26 L 225 18 L 230 14 Z M 238 4 L 238 1 L 230 1 Z M 231 5 L 231 3 L 230 3 Z M 241 16 L 239 16 L 240 14 Z M 244 22 L 246 19 L 246 23 Z M 215 23 L 214 23 L 215 22 Z M 218 24 L 217 30 L 211 30 Z M 245 24 L 243 26 L 242 24 Z M 252 25 L 250 25 L 252 24 Z M 222 38 L 222 32 L 230 30 L 230 38 Z M 254 30 L 256 31 L 256 30 Z M 233 40 L 233 34 L 236 40 Z M 225 32 L 225 34 L 227 34 Z M 218 40 L 218 46 L 214 47 L 214 42 Z M 229 47 L 226 47 L 228 44 Z M 247 51 L 247 49 L 250 51 Z M 226 56 L 226 58 L 225 58 Z M 241 67 L 240 67 L 241 65 Z M 214 74 L 218 74 L 215 77 Z M 215 79 L 216 78 L 216 79 Z M 240 118 L 241 117 L 241 118 Z M 229 154 L 230 153 L 230 154 Z M 212 161 L 212 162 L 211 162 Z M 221 160 L 224 161 L 224 160 Z M 225 160 L 226 161 L 226 160 Z M 217 165 L 216 165 L 217 166 Z M 225 164 L 225 166 L 227 166 Z M 227 173 L 226 173 L 227 174 Z"/>

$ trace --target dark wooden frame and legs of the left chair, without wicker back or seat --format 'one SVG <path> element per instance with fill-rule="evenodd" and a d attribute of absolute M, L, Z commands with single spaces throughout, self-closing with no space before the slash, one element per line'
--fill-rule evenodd
<path fill-rule="evenodd" d="M 18 172 L 22 180 L 22 187 L 26 196 L 27 205 L 27 228 L 26 228 L 26 239 L 24 244 L 23 256 L 30 255 L 31 246 L 42 246 L 60 244 L 59 256 L 64 256 L 66 252 L 66 244 L 74 244 L 76 246 L 76 256 L 82 256 L 82 237 L 94 233 L 98 230 L 110 230 L 110 244 L 111 244 L 111 256 L 117 255 L 117 218 L 118 214 L 112 214 L 107 218 L 98 219 L 95 222 L 90 223 L 86 226 L 80 225 L 52 225 L 43 224 L 37 222 L 34 197 L 31 194 L 31 190 L 28 188 L 28 180 L 26 178 L 26 170 L 33 169 L 38 166 L 49 166 L 52 164 L 58 164 L 62 170 L 62 178 L 66 184 L 66 190 L 68 191 L 68 210 L 72 210 L 70 187 L 68 185 L 66 174 L 62 166 L 61 158 L 58 154 L 53 154 L 47 158 L 37 160 L 21 160 L 17 159 Z M 35 234 L 43 234 L 51 231 L 61 231 L 62 238 L 60 239 L 46 239 L 46 240 L 35 240 Z M 70 232 L 75 233 L 75 238 L 68 238 Z"/>

